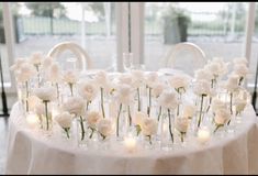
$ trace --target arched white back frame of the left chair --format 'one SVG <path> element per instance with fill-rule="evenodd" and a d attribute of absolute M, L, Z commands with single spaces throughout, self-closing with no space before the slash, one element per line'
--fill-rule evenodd
<path fill-rule="evenodd" d="M 86 70 L 91 68 L 91 59 L 87 52 L 79 46 L 78 44 L 74 42 L 63 42 L 57 45 L 55 45 L 47 54 L 47 56 L 51 56 L 53 58 L 57 58 L 61 53 L 65 51 L 70 51 L 72 54 L 76 55 L 77 62 L 78 62 L 78 68 L 80 70 Z"/>

